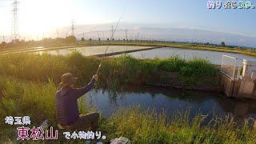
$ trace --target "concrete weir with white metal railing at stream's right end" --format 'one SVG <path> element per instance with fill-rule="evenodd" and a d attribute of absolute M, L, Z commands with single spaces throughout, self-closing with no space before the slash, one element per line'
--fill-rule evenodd
<path fill-rule="evenodd" d="M 256 62 L 223 55 L 221 71 L 226 96 L 256 99 Z"/>

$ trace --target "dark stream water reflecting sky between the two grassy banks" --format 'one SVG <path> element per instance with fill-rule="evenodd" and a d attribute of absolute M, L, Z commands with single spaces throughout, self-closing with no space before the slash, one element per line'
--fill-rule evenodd
<path fill-rule="evenodd" d="M 138 104 L 143 110 L 154 108 L 158 113 L 165 110 L 168 115 L 190 107 L 190 118 L 194 118 L 194 115 L 198 113 L 208 114 L 206 122 L 210 122 L 216 115 L 223 118 L 230 115 L 235 120 L 255 118 L 256 115 L 255 100 L 236 100 L 197 90 L 129 87 L 126 90 L 114 92 L 99 89 L 87 94 L 86 103 L 92 103 L 106 117 L 115 113 L 119 107 Z"/>

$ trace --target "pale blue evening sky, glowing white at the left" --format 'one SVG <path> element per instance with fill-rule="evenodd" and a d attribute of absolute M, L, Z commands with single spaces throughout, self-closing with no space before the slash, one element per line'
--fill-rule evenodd
<path fill-rule="evenodd" d="M 0 0 L 0 36 L 10 38 L 12 0 Z M 18 27 L 22 39 L 65 37 L 71 20 L 81 38 L 108 38 L 111 26 L 126 8 L 115 38 L 225 41 L 256 48 L 256 9 L 209 10 L 206 0 L 19 0 Z M 221 1 L 222 4 L 226 1 Z M 238 2 L 238 1 L 236 1 Z M 256 0 L 251 0 L 256 6 Z M 58 32 L 58 33 L 57 33 Z M 0 38 L 2 42 L 2 38 Z"/>

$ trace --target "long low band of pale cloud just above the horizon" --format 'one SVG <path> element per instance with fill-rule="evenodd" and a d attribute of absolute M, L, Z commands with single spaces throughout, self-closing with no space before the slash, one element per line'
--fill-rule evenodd
<path fill-rule="evenodd" d="M 85 33 L 86 38 L 98 38 L 98 34 L 102 37 L 104 36 L 104 38 L 108 38 L 111 33 L 111 26 L 114 25 L 114 23 L 105 23 L 101 25 L 77 25 L 74 32 L 78 39 L 82 38 L 83 33 Z M 139 39 L 158 39 L 182 42 L 212 42 L 216 44 L 220 44 L 222 41 L 224 41 L 227 45 L 256 48 L 256 36 L 232 34 L 213 30 L 202 30 L 193 26 L 145 26 L 143 24 L 134 25 L 132 23 L 122 23 L 120 26 L 118 26 L 114 37 L 121 39 L 125 38 L 126 29 L 128 30 L 128 38 L 133 39 L 138 38 L 139 33 Z M 58 32 L 62 37 L 64 37 L 66 36 L 66 33 L 70 34 L 70 26 L 60 27 L 58 28 Z M 52 38 L 56 37 L 56 29 L 54 29 L 48 35 Z M 31 36 L 31 38 L 32 37 L 34 36 Z"/>

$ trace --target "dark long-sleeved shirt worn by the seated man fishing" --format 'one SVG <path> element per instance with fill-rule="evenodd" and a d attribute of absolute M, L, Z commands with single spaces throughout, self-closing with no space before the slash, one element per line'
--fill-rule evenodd
<path fill-rule="evenodd" d="M 64 86 L 58 90 L 55 96 L 57 119 L 62 125 L 70 126 L 78 119 L 78 98 L 93 89 L 95 79 L 92 78 L 87 86 L 82 88 L 71 88 Z"/>

